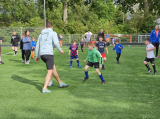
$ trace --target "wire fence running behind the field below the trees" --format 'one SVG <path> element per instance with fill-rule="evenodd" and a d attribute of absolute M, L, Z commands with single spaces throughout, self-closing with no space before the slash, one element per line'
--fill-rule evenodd
<path fill-rule="evenodd" d="M 44 27 L 0 27 L 0 40 L 3 40 L 3 44 L 10 44 L 13 31 L 16 31 L 18 35 L 21 35 L 24 34 L 25 30 L 30 31 L 31 37 L 38 39 L 43 28 Z M 62 34 L 63 43 L 72 43 L 73 39 L 80 42 L 82 35 L 84 34 Z M 93 34 L 93 36 L 94 40 L 96 40 L 97 34 Z M 144 43 L 144 39 L 150 37 L 150 34 L 110 34 L 110 37 L 111 39 L 113 37 L 119 37 L 121 43 Z"/>

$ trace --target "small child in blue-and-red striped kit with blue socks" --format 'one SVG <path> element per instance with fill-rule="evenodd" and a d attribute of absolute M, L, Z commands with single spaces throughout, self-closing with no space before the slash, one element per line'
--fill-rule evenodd
<path fill-rule="evenodd" d="M 79 59 L 78 59 L 78 46 L 76 45 L 76 40 L 73 40 L 73 45 L 71 45 L 69 47 L 69 55 L 71 54 L 71 61 L 70 61 L 70 68 L 72 68 L 72 62 L 73 62 L 73 59 L 77 59 L 77 66 L 79 68 L 81 68 L 81 65 L 79 65 Z"/>

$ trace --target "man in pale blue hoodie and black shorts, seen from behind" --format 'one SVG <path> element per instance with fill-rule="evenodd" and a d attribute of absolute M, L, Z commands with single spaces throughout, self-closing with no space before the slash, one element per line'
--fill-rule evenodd
<path fill-rule="evenodd" d="M 47 86 L 52 78 L 52 75 L 55 77 L 59 83 L 59 87 L 68 87 L 68 84 L 63 83 L 56 70 L 54 64 L 54 46 L 63 54 L 64 51 L 59 45 L 57 33 L 53 31 L 52 22 L 47 22 L 46 28 L 41 31 L 41 34 L 37 40 L 36 46 L 36 61 L 39 62 L 39 50 L 42 61 L 46 64 L 47 75 L 45 77 L 45 83 L 42 89 L 42 93 L 50 93 L 52 91 L 47 89 Z"/>

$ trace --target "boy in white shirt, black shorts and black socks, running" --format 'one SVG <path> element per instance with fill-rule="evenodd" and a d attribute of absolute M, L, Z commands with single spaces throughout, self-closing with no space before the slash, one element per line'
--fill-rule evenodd
<path fill-rule="evenodd" d="M 154 69 L 154 74 L 153 75 L 156 75 L 156 66 L 155 66 L 155 63 L 154 63 L 154 59 L 155 59 L 154 49 L 155 49 L 155 47 L 150 43 L 149 38 L 145 39 L 145 45 L 146 45 L 147 57 L 144 60 L 144 65 L 148 69 L 147 74 L 151 73 L 151 71 L 152 71 L 150 69 L 149 65 L 147 64 L 147 62 L 150 62 L 152 64 L 153 69 Z"/>

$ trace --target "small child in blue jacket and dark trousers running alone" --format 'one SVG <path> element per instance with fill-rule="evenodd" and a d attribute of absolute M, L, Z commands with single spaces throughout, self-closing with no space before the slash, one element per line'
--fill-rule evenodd
<path fill-rule="evenodd" d="M 121 49 L 123 49 L 123 46 L 121 44 L 119 44 L 119 38 L 116 39 L 116 45 L 113 48 L 113 51 L 116 49 L 116 53 L 117 53 L 117 63 L 119 64 L 119 58 L 121 56 Z"/>

